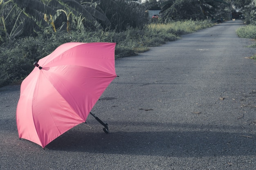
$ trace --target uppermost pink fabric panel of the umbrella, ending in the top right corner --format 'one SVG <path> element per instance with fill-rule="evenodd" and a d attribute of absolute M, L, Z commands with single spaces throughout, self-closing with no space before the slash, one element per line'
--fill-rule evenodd
<path fill-rule="evenodd" d="M 47 60 L 45 63 L 39 60 L 38 64 L 42 67 L 70 64 L 115 74 L 115 43 L 95 42 L 81 44 L 70 42 L 66 44 L 72 45 L 72 50 L 58 53 L 58 56 L 52 58 L 52 60 Z M 66 48 L 66 45 L 59 46 L 58 50 L 64 51 L 63 48 Z M 56 53 L 53 54 L 56 55 Z"/>

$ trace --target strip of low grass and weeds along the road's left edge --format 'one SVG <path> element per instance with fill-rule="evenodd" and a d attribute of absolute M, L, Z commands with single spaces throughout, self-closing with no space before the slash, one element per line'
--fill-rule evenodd
<path fill-rule="evenodd" d="M 137 55 L 180 35 L 212 26 L 209 21 L 181 21 L 151 24 L 147 28 L 115 31 L 56 32 L 46 29 L 38 37 L 10 40 L 0 45 L 0 87 L 22 81 L 34 68 L 33 63 L 66 42 L 116 42 L 115 58 Z"/>

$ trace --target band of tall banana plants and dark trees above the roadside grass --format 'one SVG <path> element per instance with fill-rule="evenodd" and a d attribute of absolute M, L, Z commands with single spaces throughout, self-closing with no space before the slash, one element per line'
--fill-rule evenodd
<path fill-rule="evenodd" d="M 157 22 L 229 19 L 230 0 L 0 0 L 0 43 L 36 36 L 51 27 L 56 31 L 126 31 L 144 29 L 148 9 L 160 7 Z"/>

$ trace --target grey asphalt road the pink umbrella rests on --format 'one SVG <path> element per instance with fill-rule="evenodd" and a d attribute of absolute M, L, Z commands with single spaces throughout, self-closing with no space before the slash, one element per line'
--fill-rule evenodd
<path fill-rule="evenodd" d="M 18 138 L 19 86 L 0 88 L 1 170 L 256 170 L 256 53 L 229 21 L 116 60 L 89 115 L 43 150 Z"/>

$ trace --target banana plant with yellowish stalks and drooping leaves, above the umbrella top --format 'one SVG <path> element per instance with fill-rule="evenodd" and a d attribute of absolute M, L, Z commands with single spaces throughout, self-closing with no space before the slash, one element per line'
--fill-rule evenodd
<path fill-rule="evenodd" d="M 66 31 L 85 31 L 85 24 L 87 23 L 90 23 L 90 27 L 93 29 L 101 28 L 102 24 L 109 25 L 109 20 L 99 7 L 99 4 L 100 1 L 80 1 L 79 3 L 76 0 L 51 0 L 49 5 L 56 9 L 57 13 L 49 21 L 54 26 L 56 20 L 61 20 L 61 26 L 65 24 Z M 65 19 L 62 16 L 60 17 L 61 13 L 65 14 Z M 102 21 L 101 24 L 99 23 L 99 20 Z"/>

